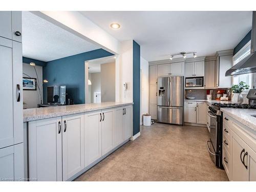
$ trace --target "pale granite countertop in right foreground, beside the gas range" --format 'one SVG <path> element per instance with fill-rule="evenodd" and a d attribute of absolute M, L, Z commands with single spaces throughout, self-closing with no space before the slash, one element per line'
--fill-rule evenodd
<path fill-rule="evenodd" d="M 234 109 L 234 108 L 221 108 L 221 111 L 230 117 L 240 121 L 242 124 L 248 126 L 253 131 L 256 131 L 256 110 L 253 109 Z"/>

